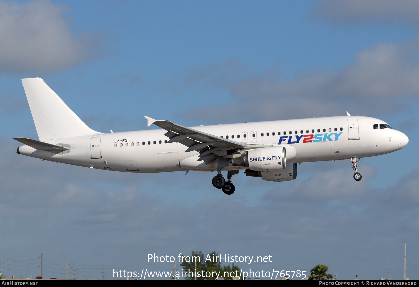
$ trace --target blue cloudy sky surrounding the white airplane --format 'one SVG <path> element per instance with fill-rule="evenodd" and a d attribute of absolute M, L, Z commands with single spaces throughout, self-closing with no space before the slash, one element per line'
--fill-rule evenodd
<path fill-rule="evenodd" d="M 274 256 L 261 268 L 401 279 L 407 241 L 407 277 L 418 278 L 414 1 L 0 1 L 0 11 L 0 257 L 89 261 L 98 279 L 103 264 L 111 277 L 148 253 L 216 250 Z M 146 129 L 143 115 L 206 125 L 349 111 L 410 142 L 361 159 L 359 183 L 349 161 L 307 163 L 287 183 L 235 175 L 226 197 L 210 173 L 125 175 L 16 154 L 13 137 L 37 138 L 26 77 L 102 132 Z M 36 276 L 37 260 L 0 268 Z M 45 277 L 63 277 L 57 266 Z"/>

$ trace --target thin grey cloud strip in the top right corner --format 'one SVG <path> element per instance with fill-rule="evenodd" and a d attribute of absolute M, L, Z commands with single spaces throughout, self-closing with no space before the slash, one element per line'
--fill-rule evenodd
<path fill-rule="evenodd" d="M 313 9 L 313 15 L 334 23 L 419 22 L 416 0 L 324 0 Z"/>

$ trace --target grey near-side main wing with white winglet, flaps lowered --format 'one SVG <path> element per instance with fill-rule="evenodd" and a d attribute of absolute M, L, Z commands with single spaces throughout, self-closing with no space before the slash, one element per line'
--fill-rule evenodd
<path fill-rule="evenodd" d="M 221 138 L 209 133 L 204 133 L 199 130 L 194 130 L 192 128 L 187 128 L 182 125 L 172 123 L 168 120 L 154 120 L 151 117 L 144 117 L 147 119 L 148 126 L 155 124 L 158 127 L 168 131 L 165 133 L 165 136 L 170 138 L 168 143 L 173 143 L 175 141 L 182 143 L 188 147 L 185 152 L 199 151 L 200 156 L 198 161 L 203 160 L 205 164 L 208 164 L 214 160 L 214 157 L 216 156 L 226 158 L 239 157 L 241 156 L 240 151 L 243 151 L 244 149 L 254 149 L 269 146 L 240 143 L 237 141 L 229 140 L 227 138 Z"/>

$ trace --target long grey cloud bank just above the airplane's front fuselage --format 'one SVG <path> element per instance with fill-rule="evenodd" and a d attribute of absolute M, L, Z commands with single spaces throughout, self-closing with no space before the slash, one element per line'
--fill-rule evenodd
<path fill-rule="evenodd" d="M 231 72 L 227 63 L 212 69 L 204 66 L 191 73 L 200 77 L 192 81 L 186 76 L 186 83 L 228 90 L 234 102 L 195 107 L 180 115 L 209 123 L 334 116 L 346 111 L 378 116 L 402 108 L 398 99 L 419 98 L 418 48 L 417 39 L 379 43 L 358 52 L 341 70 L 317 70 L 294 78 L 283 77 L 278 69 L 243 76 Z"/>

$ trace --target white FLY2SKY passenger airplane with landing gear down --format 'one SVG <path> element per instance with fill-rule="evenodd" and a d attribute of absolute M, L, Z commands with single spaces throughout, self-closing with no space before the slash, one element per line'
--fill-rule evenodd
<path fill-rule="evenodd" d="M 184 127 L 147 119 L 161 129 L 100 133 L 89 128 L 41 78 L 22 79 L 39 140 L 17 153 L 51 162 L 119 172 L 217 171 L 215 188 L 233 194 L 231 178 L 295 180 L 297 164 L 350 159 L 354 179 L 363 157 L 402 149 L 409 138 L 383 120 L 364 116 L 316 117 Z M 222 175 L 227 171 L 227 180 Z"/>

